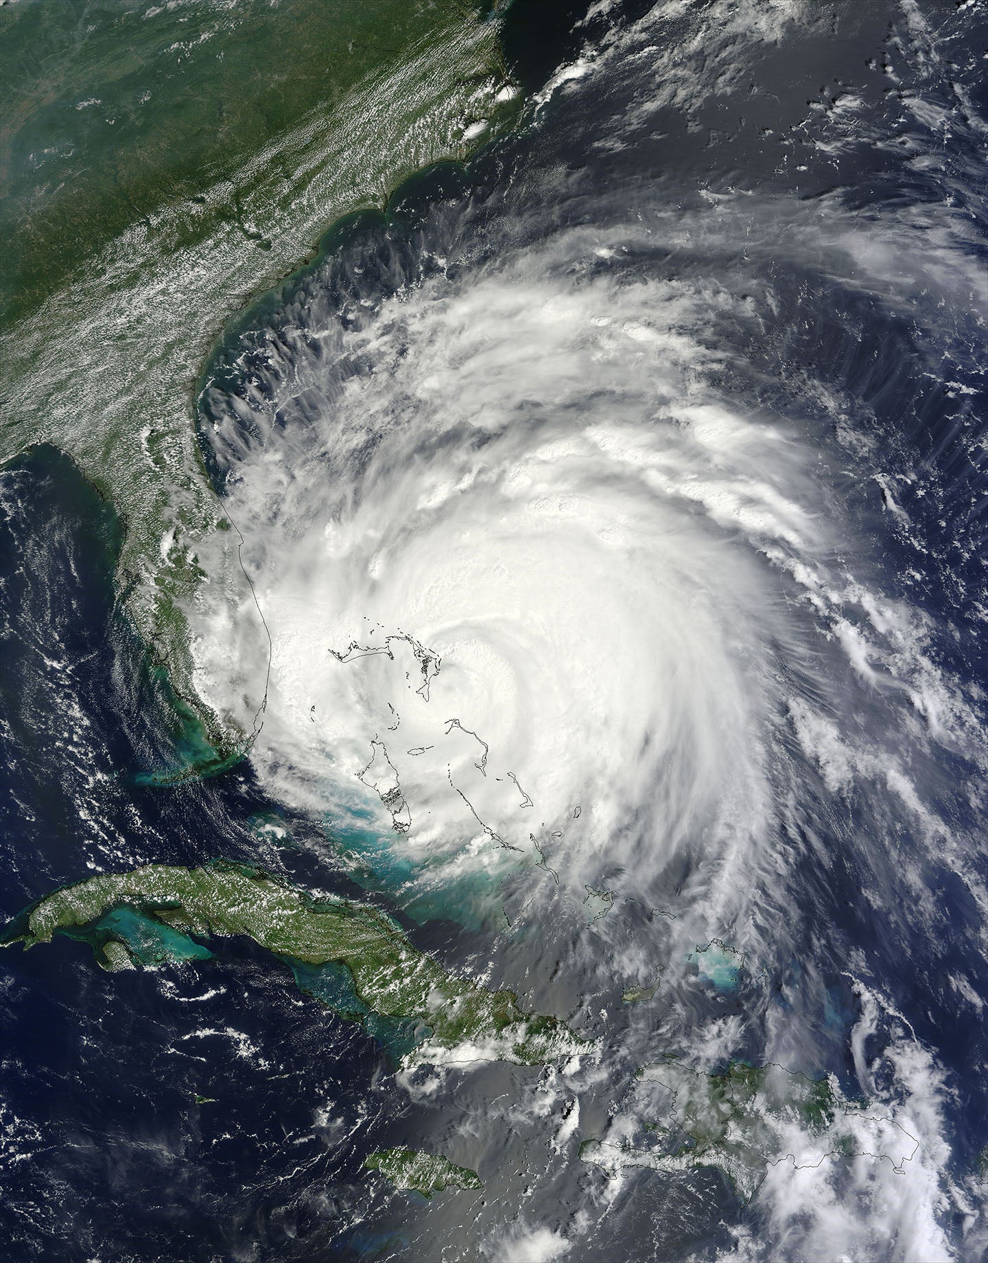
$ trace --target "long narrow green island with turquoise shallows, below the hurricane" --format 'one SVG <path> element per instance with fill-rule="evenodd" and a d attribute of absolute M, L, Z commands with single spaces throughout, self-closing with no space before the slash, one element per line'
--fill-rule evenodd
<path fill-rule="evenodd" d="M 406 1063 L 538 1065 L 587 1051 L 563 1022 L 522 1012 L 512 991 L 443 969 L 380 909 L 317 901 L 257 869 L 151 864 L 93 877 L 26 908 L 0 942 L 33 947 L 54 933 L 90 942 L 109 970 L 201 960 L 211 952 L 196 938 L 245 935 L 285 961 L 303 990 L 361 1022 Z"/>

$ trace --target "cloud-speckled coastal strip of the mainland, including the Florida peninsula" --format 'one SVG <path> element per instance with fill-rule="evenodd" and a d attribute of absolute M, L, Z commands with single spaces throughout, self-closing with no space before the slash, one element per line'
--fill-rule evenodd
<path fill-rule="evenodd" d="M 260 304 L 276 301 L 294 278 L 318 266 L 353 216 L 386 216 L 409 181 L 440 163 L 468 162 L 514 126 L 521 101 L 514 88 L 505 95 L 506 83 L 497 20 L 469 15 L 453 29 L 445 54 L 442 43 L 420 47 L 334 106 L 331 120 L 346 123 L 346 134 L 309 124 L 302 129 L 308 134 L 285 139 L 281 157 L 294 150 L 307 160 L 295 173 L 294 215 L 280 225 L 280 235 L 265 239 L 269 249 L 257 251 L 241 224 L 211 239 L 198 256 L 145 251 L 141 258 L 132 249 L 135 229 L 110 248 L 109 258 L 101 256 L 93 275 L 50 296 L 4 332 L 11 389 L 3 464 L 49 443 L 114 505 L 125 534 L 116 591 L 150 668 L 168 676 L 187 745 L 202 751 L 184 765 L 150 773 L 149 783 L 217 774 L 237 763 L 252 740 L 198 696 L 185 615 L 202 578 L 197 546 L 228 520 L 197 433 L 198 393 L 217 349 Z M 477 111 L 488 125 L 466 145 L 461 120 Z M 365 163 L 368 138 L 362 133 L 368 128 L 377 133 L 377 150 L 373 172 L 361 168 L 370 178 L 360 187 L 355 159 L 357 167 Z M 256 169 L 242 173 L 246 181 L 257 178 L 238 201 L 237 220 L 259 221 L 257 203 L 270 193 L 264 171 L 266 162 L 270 177 L 270 158 L 260 155 Z M 334 168 L 334 158 L 350 160 L 350 168 Z M 162 292 L 172 298 L 164 311 L 154 307 Z M 241 584 L 233 552 L 238 549 L 227 549 L 225 573 L 212 576 L 227 586 Z"/>

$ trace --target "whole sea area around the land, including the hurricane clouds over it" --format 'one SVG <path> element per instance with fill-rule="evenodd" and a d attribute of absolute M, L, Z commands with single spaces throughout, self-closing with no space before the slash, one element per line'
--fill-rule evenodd
<path fill-rule="evenodd" d="M 155 784 L 188 735 L 114 509 L 54 448 L 0 471 L 8 917 L 251 863 L 597 1042 L 395 1072 L 247 940 L 5 951 L 8 1258 L 983 1257 L 984 33 L 509 15 L 522 125 L 337 225 L 203 373 L 256 604 L 204 585 L 196 681 L 262 720 L 220 777 Z M 670 1060 L 829 1076 L 843 1148 L 757 1098 L 753 1191 L 622 1162 L 698 1143 Z M 483 1188 L 362 1168 L 397 1144 Z"/>

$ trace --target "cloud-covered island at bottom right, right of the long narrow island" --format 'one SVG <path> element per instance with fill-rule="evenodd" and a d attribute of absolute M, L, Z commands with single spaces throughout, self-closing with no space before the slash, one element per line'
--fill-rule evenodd
<path fill-rule="evenodd" d="M 771 1163 L 791 1159 L 797 1167 L 815 1167 L 830 1154 L 859 1156 L 864 1151 L 854 1128 L 862 1120 L 874 1135 L 869 1156 L 888 1158 L 896 1171 L 919 1147 L 891 1119 L 872 1116 L 863 1103 L 840 1098 L 829 1079 L 810 1079 L 779 1065 L 738 1062 L 723 1075 L 708 1075 L 670 1058 L 638 1072 L 638 1092 L 640 1135 L 628 1138 L 623 1115 L 622 1139 L 584 1142 L 584 1162 L 611 1173 L 626 1167 L 669 1172 L 715 1167 L 747 1202 Z"/>

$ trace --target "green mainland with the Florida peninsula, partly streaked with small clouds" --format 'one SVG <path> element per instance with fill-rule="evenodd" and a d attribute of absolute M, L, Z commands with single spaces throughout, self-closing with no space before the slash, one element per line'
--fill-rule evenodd
<path fill-rule="evenodd" d="M 498 24 L 462 0 L 24 0 L 0 58 L 0 460 L 52 443 L 112 501 L 126 610 L 220 767 L 249 734 L 193 686 L 197 546 L 226 524 L 203 364 L 341 216 L 511 121 Z M 209 578 L 236 599 L 228 534 Z"/>

